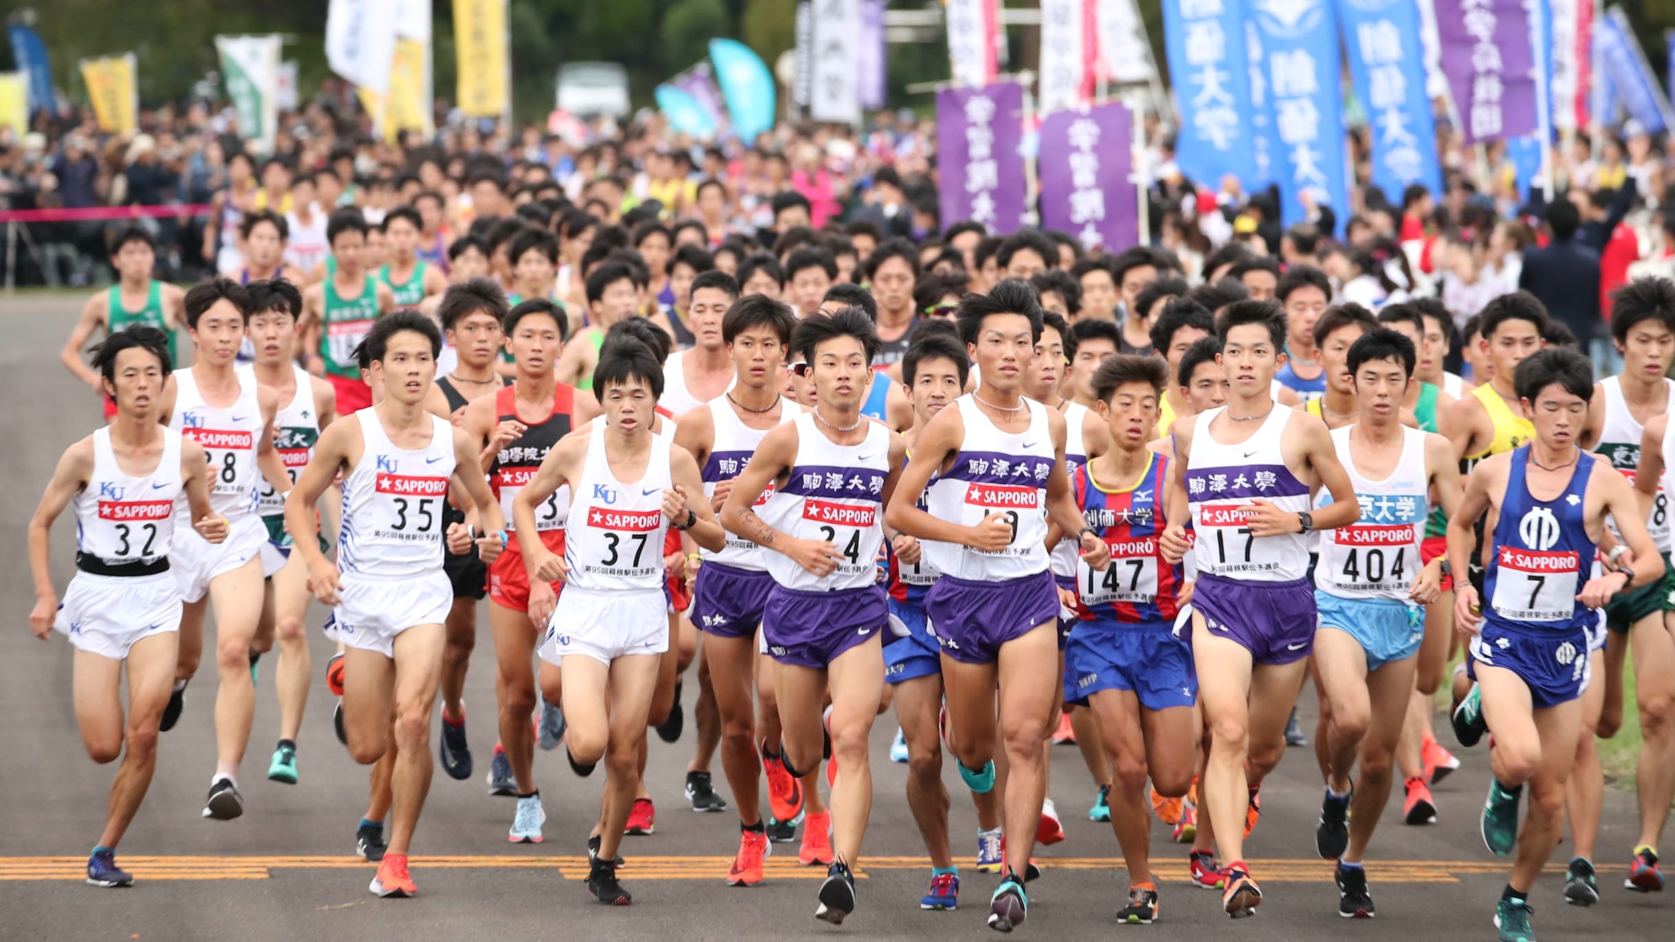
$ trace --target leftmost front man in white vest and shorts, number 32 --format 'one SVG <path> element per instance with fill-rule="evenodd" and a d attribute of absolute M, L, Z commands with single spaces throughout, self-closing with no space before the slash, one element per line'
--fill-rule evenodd
<path fill-rule="evenodd" d="M 75 719 L 87 756 L 99 764 L 127 756 L 111 783 L 104 831 L 87 858 L 87 882 L 127 887 L 116 845 L 139 811 L 157 768 L 157 722 L 169 702 L 178 659 L 181 598 L 169 575 L 174 501 L 186 496 L 198 533 L 219 543 L 226 520 L 213 515 L 208 463 L 198 443 L 157 426 L 157 397 L 169 375 L 162 330 L 137 325 L 112 334 L 94 352 L 104 394 L 116 401 L 111 424 L 65 449 L 28 523 L 35 608 L 28 627 L 40 640 L 57 629 L 75 647 Z M 75 578 L 64 603 L 52 588 L 52 523 L 75 505 Z M 127 721 L 122 665 L 127 664 Z"/>

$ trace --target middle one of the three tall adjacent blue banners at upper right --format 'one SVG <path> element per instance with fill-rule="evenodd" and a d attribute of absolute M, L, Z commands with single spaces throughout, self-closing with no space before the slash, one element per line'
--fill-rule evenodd
<path fill-rule="evenodd" d="M 1328 0 L 1251 0 L 1261 30 L 1273 112 L 1280 223 L 1308 221 L 1308 204 L 1332 206 L 1337 230 L 1350 216 L 1338 87 L 1338 22 Z M 1429 104 L 1427 104 L 1429 107 Z"/>

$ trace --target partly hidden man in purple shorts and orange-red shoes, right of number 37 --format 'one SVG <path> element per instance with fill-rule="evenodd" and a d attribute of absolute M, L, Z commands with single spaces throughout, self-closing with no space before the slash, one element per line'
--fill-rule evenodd
<path fill-rule="evenodd" d="M 693 290 L 693 310 L 705 302 L 705 295 L 720 290 Z M 693 320 L 695 329 L 702 322 Z M 727 501 L 734 479 L 750 464 L 762 436 L 801 414 L 777 389 L 796 323 L 786 303 L 760 295 L 735 302 L 722 318 L 722 340 L 737 370 L 737 386 L 724 394 L 725 399 L 688 412 L 675 429 L 675 444 L 692 453 L 704 468 L 704 496 L 715 505 Z M 739 808 L 739 853 L 727 882 L 754 887 L 762 882 L 762 860 L 772 853 L 760 811 L 764 758 L 757 754 L 750 697 L 755 632 L 772 577 L 767 575 L 767 550 L 740 536 L 730 536 L 722 550 L 700 553 L 698 558 L 690 617 L 705 635 L 704 660 L 720 712 L 722 771 Z M 692 773 L 687 778 L 690 783 Z M 802 788 L 784 771 L 777 754 L 769 769 L 769 810 L 781 821 L 792 821 L 802 811 Z"/>

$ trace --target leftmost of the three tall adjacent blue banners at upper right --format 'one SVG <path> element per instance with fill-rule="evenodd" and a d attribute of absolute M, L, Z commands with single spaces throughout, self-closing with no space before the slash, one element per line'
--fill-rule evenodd
<path fill-rule="evenodd" d="M 1246 191 L 1256 186 L 1246 3 L 1162 0 L 1169 80 L 1181 109 L 1174 163 L 1183 176 L 1211 189 L 1224 174 L 1236 176 Z"/>

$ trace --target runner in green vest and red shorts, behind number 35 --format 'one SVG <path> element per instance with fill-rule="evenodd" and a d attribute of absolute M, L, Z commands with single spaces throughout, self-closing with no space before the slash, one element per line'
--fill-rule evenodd
<path fill-rule="evenodd" d="M 303 350 L 308 372 L 325 377 L 337 391 L 340 416 L 372 406 L 372 391 L 360 379 L 355 347 L 372 323 L 395 310 L 390 287 L 367 273 L 362 253 L 367 220 L 360 210 L 332 211 L 327 240 L 332 245 L 332 273 L 303 292 Z"/>

